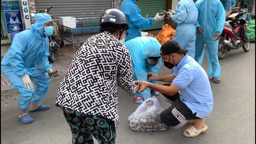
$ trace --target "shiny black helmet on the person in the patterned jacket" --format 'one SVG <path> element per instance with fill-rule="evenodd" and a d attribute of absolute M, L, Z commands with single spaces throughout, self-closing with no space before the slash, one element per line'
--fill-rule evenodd
<path fill-rule="evenodd" d="M 126 16 L 123 12 L 117 9 L 109 9 L 106 10 L 102 16 L 100 17 L 100 26 L 101 27 L 109 27 L 115 25 L 123 25 L 125 30 L 129 29 L 128 22 Z"/>

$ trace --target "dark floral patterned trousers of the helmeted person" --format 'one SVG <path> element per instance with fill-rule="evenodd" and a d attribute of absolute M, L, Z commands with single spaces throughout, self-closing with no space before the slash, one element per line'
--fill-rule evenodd
<path fill-rule="evenodd" d="M 115 144 L 114 121 L 60 107 L 71 128 L 72 144 L 94 144 L 92 136 L 98 140 L 99 144 Z"/>

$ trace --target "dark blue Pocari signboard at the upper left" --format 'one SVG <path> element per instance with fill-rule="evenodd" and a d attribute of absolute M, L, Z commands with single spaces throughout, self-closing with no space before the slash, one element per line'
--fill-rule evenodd
<path fill-rule="evenodd" d="M 2 2 L 8 33 L 23 31 L 19 1 Z"/>

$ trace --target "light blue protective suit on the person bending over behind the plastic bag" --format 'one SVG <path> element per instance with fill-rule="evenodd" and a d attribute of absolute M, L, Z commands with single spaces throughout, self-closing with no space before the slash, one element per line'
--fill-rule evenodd
<path fill-rule="evenodd" d="M 124 43 L 128 48 L 132 58 L 132 77 L 133 80 L 147 81 L 148 72 L 154 72 L 156 75 L 162 66 L 162 57 L 155 66 L 146 64 L 148 57 L 159 57 L 161 45 L 156 38 L 149 36 L 140 36 Z M 150 80 L 151 83 L 157 84 L 155 80 Z M 142 96 L 144 100 L 151 97 L 150 89 L 147 88 L 144 92 L 135 94 L 135 97 Z"/>

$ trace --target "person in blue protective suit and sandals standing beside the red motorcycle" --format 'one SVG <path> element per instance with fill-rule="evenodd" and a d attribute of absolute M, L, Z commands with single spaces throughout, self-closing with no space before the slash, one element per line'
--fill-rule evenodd
<path fill-rule="evenodd" d="M 226 12 L 219 0 L 198 0 L 198 20 L 196 22 L 195 60 L 201 65 L 206 44 L 209 75 L 214 83 L 220 83 L 220 63 L 218 60 L 218 37 L 222 33 Z"/>

